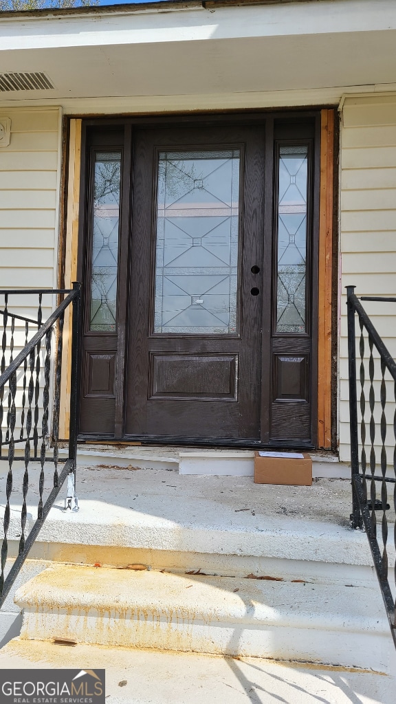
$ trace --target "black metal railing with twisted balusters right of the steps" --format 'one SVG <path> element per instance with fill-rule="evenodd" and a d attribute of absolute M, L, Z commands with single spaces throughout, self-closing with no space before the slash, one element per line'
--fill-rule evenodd
<path fill-rule="evenodd" d="M 396 646 L 396 363 L 360 303 L 360 300 L 396 303 L 396 298 L 361 296 L 359 299 L 354 288 L 347 286 L 352 465 L 350 524 L 354 529 L 366 530 Z M 380 531 L 377 530 L 378 523 Z M 390 527 L 392 539 L 388 540 Z M 392 562 L 391 582 L 388 579 L 389 562 Z"/>

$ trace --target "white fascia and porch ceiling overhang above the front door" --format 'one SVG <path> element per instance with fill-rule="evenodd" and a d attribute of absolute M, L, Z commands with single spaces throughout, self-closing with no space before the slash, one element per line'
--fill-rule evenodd
<path fill-rule="evenodd" d="M 0 73 L 54 90 L 0 101 L 172 96 L 395 82 L 396 4 L 335 0 L 0 18 Z"/>

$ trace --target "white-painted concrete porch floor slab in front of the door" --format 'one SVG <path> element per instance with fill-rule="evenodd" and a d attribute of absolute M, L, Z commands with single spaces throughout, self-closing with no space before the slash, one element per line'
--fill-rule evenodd
<path fill-rule="evenodd" d="M 1 465 L 0 491 L 5 489 L 8 471 L 6 463 Z M 39 465 L 30 464 L 26 532 L 37 515 L 39 471 Z M 23 472 L 23 463 L 15 463 L 11 540 L 20 536 Z M 46 465 L 44 501 L 51 490 L 52 472 L 52 465 Z M 149 469 L 135 467 L 132 460 L 127 466 L 114 460 L 110 466 L 100 461 L 79 465 L 77 494 L 78 513 L 64 513 L 66 484 L 63 486 L 40 532 L 40 542 L 206 552 L 210 534 L 211 542 L 220 541 L 216 545 L 219 552 L 227 553 L 233 534 L 240 539 L 237 552 L 243 552 L 244 537 L 249 536 L 250 554 L 255 553 L 255 545 L 261 554 L 265 533 L 268 555 L 277 546 L 279 557 L 296 559 L 297 551 L 307 559 L 309 546 L 301 545 L 302 533 L 316 539 L 326 530 L 326 554 L 329 544 L 334 543 L 339 561 L 342 540 L 347 539 L 345 558 L 349 564 L 359 563 L 355 553 L 366 546 L 366 536 L 349 529 L 351 486 L 345 479 L 314 479 L 312 486 L 254 484 L 253 477 L 180 475 L 177 466 Z M 285 541 L 286 536 L 291 542 Z M 316 560 L 321 559 L 319 553 L 318 540 Z"/>

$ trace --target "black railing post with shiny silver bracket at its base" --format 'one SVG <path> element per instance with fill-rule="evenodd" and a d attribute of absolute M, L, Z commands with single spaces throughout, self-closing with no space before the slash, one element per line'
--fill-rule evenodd
<path fill-rule="evenodd" d="M 70 424 L 69 424 L 69 460 L 73 460 L 73 471 L 68 474 L 68 494 L 65 499 L 65 510 L 78 511 L 78 498 L 75 493 L 75 472 L 77 469 L 77 436 L 78 436 L 78 396 L 80 391 L 80 315 L 81 315 L 81 284 L 73 282 L 72 318 L 72 348 L 71 348 L 71 383 L 70 383 Z"/>

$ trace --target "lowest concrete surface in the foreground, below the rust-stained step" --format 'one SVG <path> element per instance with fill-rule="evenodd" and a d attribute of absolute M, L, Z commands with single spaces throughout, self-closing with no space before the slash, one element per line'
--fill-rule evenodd
<path fill-rule="evenodd" d="M 1 670 L 106 670 L 109 704 L 394 704 L 394 677 L 340 667 L 14 640 Z"/>

